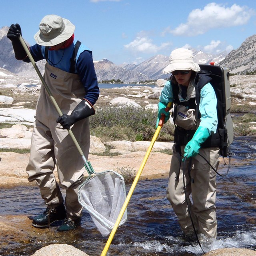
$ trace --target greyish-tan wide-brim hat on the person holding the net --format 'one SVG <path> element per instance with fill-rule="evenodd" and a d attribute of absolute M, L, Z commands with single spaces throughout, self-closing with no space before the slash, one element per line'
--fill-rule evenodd
<path fill-rule="evenodd" d="M 58 15 L 46 15 L 39 24 L 39 31 L 34 35 L 36 43 L 42 46 L 54 46 L 70 38 L 75 26 Z"/>

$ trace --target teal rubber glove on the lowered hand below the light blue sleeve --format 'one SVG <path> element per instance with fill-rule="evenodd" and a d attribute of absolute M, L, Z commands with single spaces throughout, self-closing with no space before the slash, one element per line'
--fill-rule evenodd
<path fill-rule="evenodd" d="M 200 145 L 204 143 L 209 136 L 208 130 L 199 126 L 193 138 L 184 148 L 184 158 L 182 158 L 182 161 L 184 161 L 185 157 L 190 158 L 196 156 L 199 153 Z"/>

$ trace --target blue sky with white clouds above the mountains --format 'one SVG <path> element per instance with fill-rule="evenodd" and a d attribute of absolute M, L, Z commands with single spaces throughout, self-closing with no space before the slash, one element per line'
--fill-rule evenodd
<path fill-rule="evenodd" d="M 230 52 L 256 34 L 255 0 L 8 0 L 1 1 L 0 28 L 19 23 L 32 45 L 47 14 L 70 20 L 94 60 L 117 65 L 180 47 Z"/>

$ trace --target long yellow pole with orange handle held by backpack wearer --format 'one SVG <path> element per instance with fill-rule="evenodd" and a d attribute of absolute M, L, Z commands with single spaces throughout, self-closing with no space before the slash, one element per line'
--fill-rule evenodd
<path fill-rule="evenodd" d="M 166 108 L 166 111 L 170 110 L 170 106 L 171 106 L 171 102 L 168 103 L 167 108 Z M 112 242 L 112 240 L 113 240 L 113 238 L 114 238 L 114 235 L 115 235 L 116 230 L 117 230 L 117 228 L 118 228 L 118 226 L 119 226 L 119 224 L 120 224 L 120 221 L 122 220 L 122 216 L 124 215 L 124 212 L 125 212 L 125 210 L 126 210 L 126 207 L 127 207 L 128 203 L 129 203 L 129 201 L 130 201 L 130 198 L 131 198 L 131 196 L 132 196 L 132 193 L 134 192 L 134 189 L 135 189 L 135 187 L 136 187 L 136 184 L 137 184 L 137 182 L 138 182 L 138 180 L 139 180 L 139 178 L 140 178 L 140 175 L 141 175 L 141 173 L 142 173 L 142 170 L 143 170 L 143 168 L 144 168 L 144 166 L 145 166 L 145 164 L 146 164 L 146 162 L 147 162 L 147 160 L 148 160 L 148 156 L 150 155 L 150 152 L 151 152 L 151 150 L 152 150 L 152 148 L 153 148 L 153 146 L 154 146 L 154 143 L 155 143 L 155 141 L 156 141 L 156 139 L 157 139 L 157 137 L 158 137 L 158 134 L 159 134 L 159 132 L 160 132 L 160 130 L 161 130 L 163 124 L 164 124 L 163 121 L 164 121 L 164 116 L 162 116 L 162 118 L 160 119 L 160 122 L 159 122 L 159 124 L 158 124 L 158 127 L 156 128 L 156 132 L 155 132 L 155 134 L 154 134 L 154 136 L 153 136 L 153 138 L 152 138 L 152 140 L 151 140 L 151 143 L 150 143 L 150 146 L 149 146 L 149 148 L 148 148 L 148 150 L 147 150 L 147 152 L 146 152 L 146 155 L 144 156 L 144 159 L 143 159 L 143 161 L 142 161 L 142 164 L 141 164 L 141 166 L 140 166 L 140 169 L 138 170 L 138 173 L 136 174 L 136 177 L 135 177 L 135 179 L 134 179 L 134 181 L 133 181 L 133 183 L 132 183 L 132 186 L 131 186 L 130 191 L 129 191 L 127 197 L 126 197 L 126 200 L 124 201 L 124 204 L 123 204 L 123 206 L 122 206 L 122 209 L 120 210 L 120 213 L 119 213 L 119 215 L 118 215 L 118 218 L 116 219 L 116 223 L 115 223 L 115 225 L 114 225 L 114 227 L 113 227 L 113 229 L 112 229 L 112 231 L 111 231 L 111 233 L 110 233 L 110 235 L 109 235 L 109 237 L 108 237 L 108 241 L 106 242 L 106 245 L 105 245 L 105 247 L 104 247 L 104 249 L 103 249 L 103 251 L 102 251 L 102 253 L 101 253 L 100 256 L 106 256 L 106 254 L 107 254 L 107 252 L 108 252 L 108 248 L 109 248 L 109 246 L 110 246 L 110 244 L 111 244 L 111 242 Z"/>

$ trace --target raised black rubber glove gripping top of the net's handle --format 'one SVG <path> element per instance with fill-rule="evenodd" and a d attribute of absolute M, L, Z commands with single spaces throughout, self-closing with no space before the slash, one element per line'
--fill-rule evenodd
<path fill-rule="evenodd" d="M 26 58 L 27 54 L 24 50 L 19 37 L 21 36 L 21 28 L 18 23 L 15 25 L 12 24 L 7 32 L 7 38 L 9 38 L 12 41 L 12 47 L 15 53 L 15 58 L 17 60 L 23 60 Z"/>

